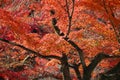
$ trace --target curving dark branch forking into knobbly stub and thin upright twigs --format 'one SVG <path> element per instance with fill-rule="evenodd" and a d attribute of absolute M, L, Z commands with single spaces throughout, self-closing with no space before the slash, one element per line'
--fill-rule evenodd
<path fill-rule="evenodd" d="M 68 15 L 69 18 L 70 18 L 70 19 L 69 19 L 68 35 L 69 35 L 69 32 L 70 32 L 72 15 L 73 15 L 73 12 L 74 12 L 74 1 L 75 1 L 75 0 L 72 0 L 72 2 L 73 2 L 72 14 L 70 14 L 70 12 L 69 12 L 69 15 Z M 68 6 L 68 3 L 67 3 L 67 0 L 66 0 L 66 7 L 67 7 L 68 10 L 69 10 L 69 6 Z M 63 32 L 61 32 L 61 30 L 58 28 L 58 26 L 56 26 L 56 24 L 57 24 L 57 20 L 56 20 L 56 18 L 53 18 L 53 19 L 52 19 L 52 25 L 53 25 L 53 27 L 54 27 L 55 32 L 56 32 L 59 36 L 63 36 L 63 39 L 64 39 L 65 41 L 67 41 L 70 45 L 72 45 L 72 46 L 77 50 L 77 52 L 78 52 L 78 54 L 79 54 L 79 57 L 80 57 L 80 60 L 81 60 L 82 67 L 83 67 L 83 69 L 85 70 L 85 69 L 86 69 L 86 64 L 85 64 L 85 60 L 84 60 L 84 56 L 83 56 L 83 51 L 82 51 L 82 49 L 80 49 L 76 43 L 74 43 L 72 40 L 70 40 L 70 39 L 67 37 L 68 35 L 65 36 L 65 34 L 64 34 Z M 65 36 L 65 37 L 64 37 L 64 36 Z"/>

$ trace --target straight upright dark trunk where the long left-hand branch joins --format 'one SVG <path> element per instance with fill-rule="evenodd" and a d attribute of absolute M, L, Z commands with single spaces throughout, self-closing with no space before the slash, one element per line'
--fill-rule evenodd
<path fill-rule="evenodd" d="M 63 54 L 62 56 L 61 65 L 62 65 L 61 70 L 63 72 L 63 80 L 71 80 L 68 59 L 65 54 Z"/>

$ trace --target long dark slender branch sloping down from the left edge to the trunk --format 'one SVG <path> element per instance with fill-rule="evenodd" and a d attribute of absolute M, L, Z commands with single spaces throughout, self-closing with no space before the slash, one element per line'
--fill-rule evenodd
<path fill-rule="evenodd" d="M 22 48 L 22 49 L 24 49 L 24 50 L 26 50 L 26 51 L 28 51 L 28 52 L 31 52 L 32 54 L 35 54 L 35 55 L 37 55 L 38 57 L 41 57 L 41 58 L 45 58 L 45 59 L 55 58 L 55 59 L 58 59 L 58 60 L 61 59 L 60 57 L 54 56 L 54 55 L 44 56 L 44 55 L 40 54 L 39 52 L 36 52 L 36 51 L 31 50 L 31 49 L 29 49 L 29 48 L 26 48 L 26 47 L 23 46 L 23 45 L 20 45 L 20 44 L 17 44 L 17 43 L 15 43 L 15 42 L 11 42 L 11 41 L 8 41 L 8 40 L 2 39 L 2 38 L 0 38 L 0 41 L 5 42 L 5 43 L 8 43 L 8 44 L 11 44 L 11 45 L 13 45 L 13 46 L 18 46 L 18 47 L 20 47 L 20 48 Z"/>

